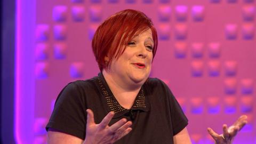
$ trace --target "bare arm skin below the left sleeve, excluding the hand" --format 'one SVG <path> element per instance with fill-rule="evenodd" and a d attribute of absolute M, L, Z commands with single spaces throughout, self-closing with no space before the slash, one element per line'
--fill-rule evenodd
<path fill-rule="evenodd" d="M 49 129 L 49 131 L 47 132 L 47 143 L 48 144 L 57 144 L 57 143 L 58 144 L 66 144 L 66 143 L 82 144 L 83 140 L 70 134 Z"/>

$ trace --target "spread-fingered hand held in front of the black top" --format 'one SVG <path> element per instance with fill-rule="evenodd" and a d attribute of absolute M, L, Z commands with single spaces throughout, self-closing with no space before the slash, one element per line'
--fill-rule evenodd
<path fill-rule="evenodd" d="M 87 109 L 86 112 L 86 136 L 83 144 L 114 143 L 132 130 L 130 127 L 132 122 L 127 122 L 125 118 L 108 126 L 115 114 L 113 111 L 108 113 L 99 124 L 95 124 L 93 111 L 91 109 Z"/>

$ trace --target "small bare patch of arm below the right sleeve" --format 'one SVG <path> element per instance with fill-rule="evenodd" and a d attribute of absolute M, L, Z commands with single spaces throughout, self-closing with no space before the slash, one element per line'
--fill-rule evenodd
<path fill-rule="evenodd" d="M 181 130 L 179 133 L 173 137 L 174 144 L 189 144 L 191 140 L 189 138 L 187 127 Z"/>

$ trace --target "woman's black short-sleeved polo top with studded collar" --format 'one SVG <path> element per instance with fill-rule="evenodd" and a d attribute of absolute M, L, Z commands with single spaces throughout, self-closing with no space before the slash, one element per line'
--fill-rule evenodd
<path fill-rule="evenodd" d="M 100 123 L 110 112 L 115 115 L 109 125 L 127 118 L 132 131 L 118 140 L 123 143 L 173 143 L 173 135 L 188 124 L 187 117 L 169 87 L 157 78 L 148 78 L 142 85 L 131 109 L 119 105 L 103 75 L 86 81 L 69 83 L 58 95 L 50 121 L 46 126 L 85 139 L 86 109 Z"/>

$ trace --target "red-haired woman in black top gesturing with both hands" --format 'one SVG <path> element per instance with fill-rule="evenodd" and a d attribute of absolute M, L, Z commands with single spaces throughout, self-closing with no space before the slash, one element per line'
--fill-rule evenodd
<path fill-rule="evenodd" d="M 95 32 L 92 49 L 101 73 L 69 83 L 46 126 L 48 143 L 191 143 L 179 103 L 165 83 L 149 78 L 157 33 L 142 12 L 124 10 Z M 230 143 L 246 123 L 242 116 L 223 134 Z"/>

